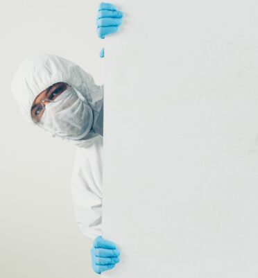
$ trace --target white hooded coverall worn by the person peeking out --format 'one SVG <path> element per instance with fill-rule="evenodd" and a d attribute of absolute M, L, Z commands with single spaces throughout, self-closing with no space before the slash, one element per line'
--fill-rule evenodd
<path fill-rule="evenodd" d="M 66 82 L 92 108 L 94 123 L 83 139 L 62 137 L 76 145 L 71 176 L 71 196 L 78 225 L 88 238 L 94 240 L 101 232 L 102 206 L 102 147 L 103 147 L 103 86 L 78 64 L 58 55 L 42 53 L 24 59 L 12 79 L 12 94 L 24 118 L 36 125 L 31 117 L 33 101 L 44 89 Z"/>

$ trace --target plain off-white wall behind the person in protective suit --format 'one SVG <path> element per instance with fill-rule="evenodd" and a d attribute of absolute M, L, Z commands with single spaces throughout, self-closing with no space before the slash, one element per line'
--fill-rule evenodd
<path fill-rule="evenodd" d="M 71 203 L 74 146 L 21 118 L 10 92 L 27 55 L 54 53 L 78 63 L 102 84 L 95 31 L 98 1 L 2 1 L 0 7 L 0 277 L 96 277 L 92 243 Z"/>

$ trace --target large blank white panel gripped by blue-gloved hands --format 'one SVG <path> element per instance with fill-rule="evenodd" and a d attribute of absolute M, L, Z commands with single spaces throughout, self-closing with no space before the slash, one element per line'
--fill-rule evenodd
<path fill-rule="evenodd" d="M 258 275 L 258 4 L 115 1 L 105 40 L 103 277 Z"/>

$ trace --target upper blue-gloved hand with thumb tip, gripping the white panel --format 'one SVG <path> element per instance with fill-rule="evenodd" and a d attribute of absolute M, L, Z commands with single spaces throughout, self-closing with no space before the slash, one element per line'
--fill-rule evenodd
<path fill-rule="evenodd" d="M 110 3 L 100 3 L 96 19 L 98 37 L 105 39 L 105 35 L 116 33 L 122 24 L 123 12 Z M 104 57 L 104 49 L 101 49 L 101 58 Z"/>

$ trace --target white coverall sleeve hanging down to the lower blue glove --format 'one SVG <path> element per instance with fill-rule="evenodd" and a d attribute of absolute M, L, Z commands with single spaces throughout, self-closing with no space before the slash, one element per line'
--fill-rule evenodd
<path fill-rule="evenodd" d="M 102 144 L 103 137 L 98 136 L 90 146 L 76 148 L 71 176 L 76 221 L 92 241 L 102 234 Z"/>

